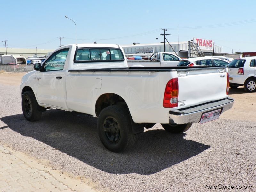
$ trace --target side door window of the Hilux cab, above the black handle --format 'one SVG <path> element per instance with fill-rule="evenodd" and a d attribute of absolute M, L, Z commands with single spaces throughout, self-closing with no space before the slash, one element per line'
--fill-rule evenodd
<path fill-rule="evenodd" d="M 63 70 L 68 50 L 69 48 L 53 53 L 51 57 L 44 62 L 44 71 Z"/>

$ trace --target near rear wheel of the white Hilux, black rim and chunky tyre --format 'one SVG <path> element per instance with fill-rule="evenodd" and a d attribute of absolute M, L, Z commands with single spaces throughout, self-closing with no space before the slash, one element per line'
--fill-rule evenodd
<path fill-rule="evenodd" d="M 98 134 L 102 144 L 110 151 L 121 152 L 135 143 L 129 111 L 122 106 L 104 108 L 98 117 Z"/>

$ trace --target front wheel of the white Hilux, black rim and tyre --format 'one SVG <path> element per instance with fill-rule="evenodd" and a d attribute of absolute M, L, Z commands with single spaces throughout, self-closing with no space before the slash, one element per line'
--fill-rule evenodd
<path fill-rule="evenodd" d="M 36 101 L 33 91 L 23 93 L 21 107 L 23 115 L 28 121 L 37 121 L 41 118 L 42 112 L 38 110 L 40 106 Z"/>

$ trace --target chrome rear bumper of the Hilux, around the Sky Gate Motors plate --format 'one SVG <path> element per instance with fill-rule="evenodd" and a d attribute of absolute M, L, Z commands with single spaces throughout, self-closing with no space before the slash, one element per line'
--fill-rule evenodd
<path fill-rule="evenodd" d="M 227 99 L 215 101 L 212 103 L 202 104 L 196 107 L 187 108 L 184 110 L 175 110 L 169 112 L 170 124 L 185 124 L 190 122 L 200 122 L 203 113 L 221 109 L 221 114 L 228 109 L 231 109 L 234 104 L 234 99 L 228 97 Z"/>

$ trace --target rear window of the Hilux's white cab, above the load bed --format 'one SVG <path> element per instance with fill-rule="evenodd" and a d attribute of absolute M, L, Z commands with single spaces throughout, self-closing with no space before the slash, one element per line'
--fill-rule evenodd
<path fill-rule="evenodd" d="M 124 55 L 120 49 L 115 48 L 78 48 L 74 62 L 96 61 L 124 61 Z"/>

